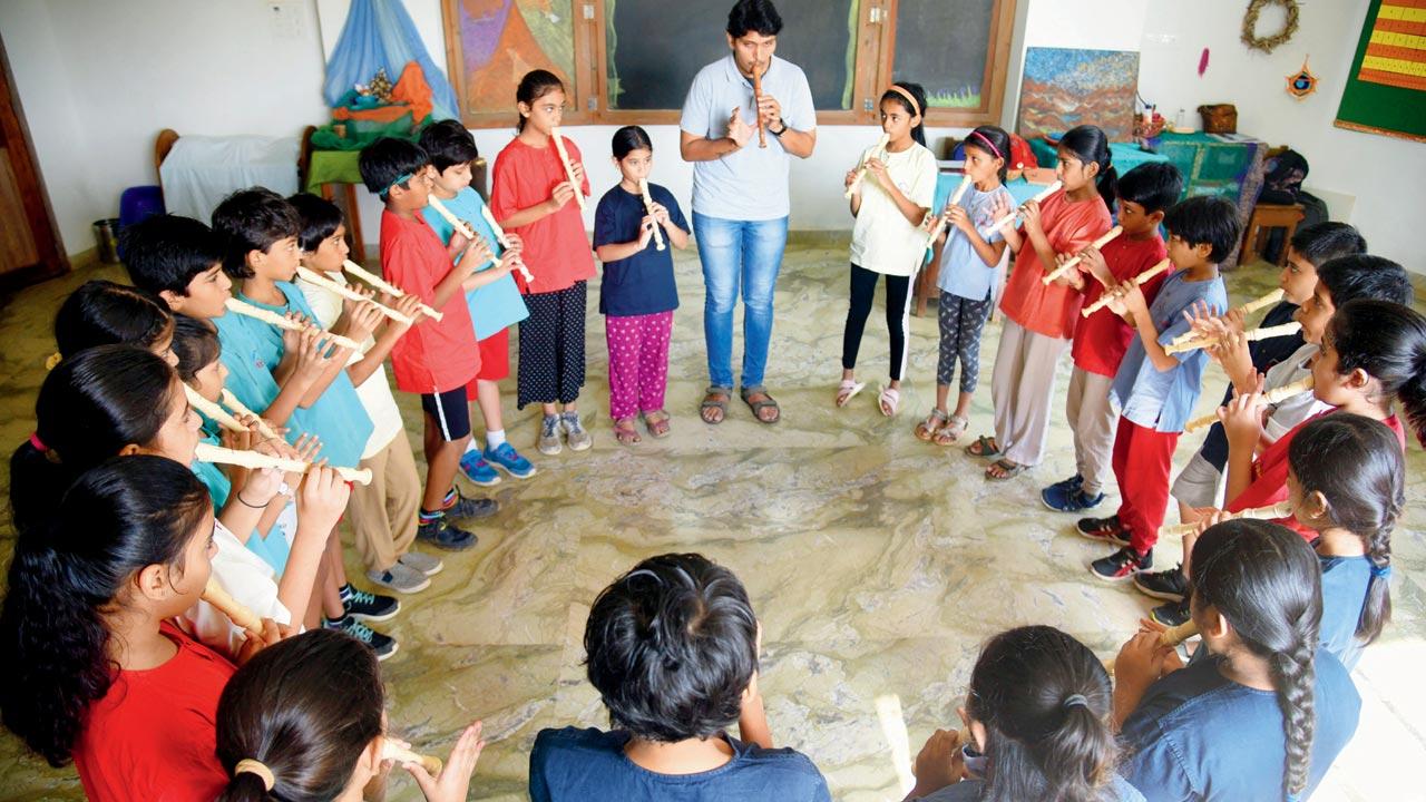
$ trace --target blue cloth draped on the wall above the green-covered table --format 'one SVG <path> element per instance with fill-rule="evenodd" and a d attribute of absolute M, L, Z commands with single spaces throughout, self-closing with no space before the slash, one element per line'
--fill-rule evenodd
<path fill-rule="evenodd" d="M 401 0 L 352 0 L 342 34 L 327 63 L 322 96 L 328 106 L 335 107 L 354 84 L 369 81 L 381 67 L 395 83 L 409 61 L 421 64 L 431 84 L 431 116 L 436 120 L 459 117 L 455 90 L 431 60 Z"/>

